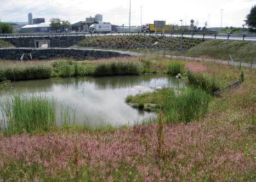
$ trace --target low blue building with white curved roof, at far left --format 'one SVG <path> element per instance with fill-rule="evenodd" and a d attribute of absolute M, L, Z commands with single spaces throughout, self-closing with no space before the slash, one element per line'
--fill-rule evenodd
<path fill-rule="evenodd" d="M 53 28 L 50 26 L 50 22 L 35 24 L 35 25 L 25 25 L 20 28 L 20 32 L 49 32 L 53 31 Z"/>

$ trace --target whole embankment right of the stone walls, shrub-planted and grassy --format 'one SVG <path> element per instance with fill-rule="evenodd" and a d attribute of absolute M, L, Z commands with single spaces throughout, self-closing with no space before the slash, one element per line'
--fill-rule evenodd
<path fill-rule="evenodd" d="M 155 44 L 156 42 L 158 44 Z M 230 53 L 234 61 L 240 62 L 242 60 L 242 62 L 256 63 L 256 43 L 241 40 L 202 41 L 202 39 L 161 36 L 100 36 L 87 37 L 77 46 L 80 48 L 123 49 L 146 55 L 150 52 L 151 56 L 185 55 L 226 61 L 229 60 L 228 54 Z"/>

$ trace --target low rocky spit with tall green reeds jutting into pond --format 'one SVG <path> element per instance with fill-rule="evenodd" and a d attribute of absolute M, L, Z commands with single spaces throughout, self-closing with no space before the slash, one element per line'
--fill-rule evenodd
<path fill-rule="evenodd" d="M 190 122 L 206 114 L 211 96 L 200 89 L 189 87 L 174 90 L 164 88 L 156 92 L 127 96 L 132 107 L 147 111 L 163 109 L 167 123 Z"/>

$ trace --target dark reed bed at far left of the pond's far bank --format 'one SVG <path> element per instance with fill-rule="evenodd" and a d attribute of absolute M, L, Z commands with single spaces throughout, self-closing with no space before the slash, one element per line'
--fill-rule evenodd
<path fill-rule="evenodd" d="M 48 64 L 14 64 L 0 67 L 0 79 L 31 80 L 50 78 L 52 67 Z"/>

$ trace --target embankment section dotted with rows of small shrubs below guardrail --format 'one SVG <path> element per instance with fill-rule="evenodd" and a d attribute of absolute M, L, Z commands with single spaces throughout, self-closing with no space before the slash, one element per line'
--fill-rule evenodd
<path fill-rule="evenodd" d="M 202 41 L 203 39 L 169 36 L 87 36 L 78 43 L 78 46 L 126 50 L 144 49 L 145 47 L 147 49 L 186 50 L 200 44 Z"/>

